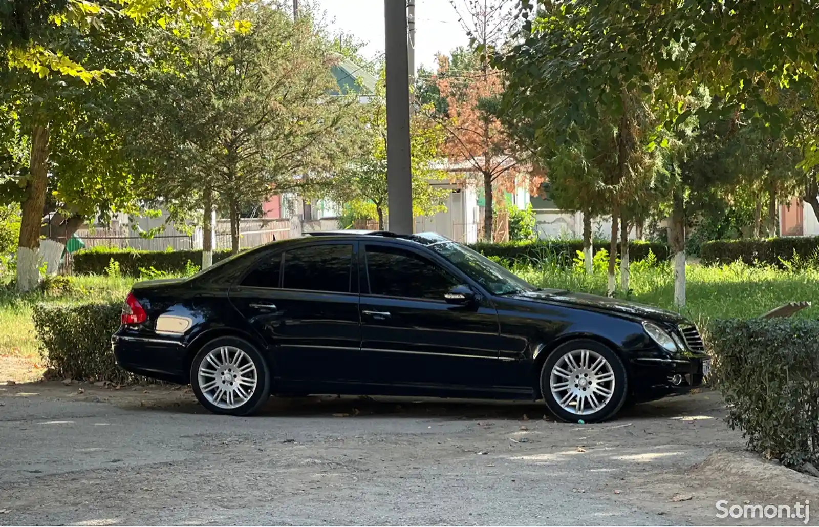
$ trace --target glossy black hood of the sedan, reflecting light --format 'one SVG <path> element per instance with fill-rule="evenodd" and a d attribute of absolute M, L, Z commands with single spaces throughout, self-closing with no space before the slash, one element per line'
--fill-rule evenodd
<path fill-rule="evenodd" d="M 613 311 L 619 315 L 634 318 L 680 324 L 686 321 L 684 316 L 674 311 L 667 311 L 657 307 L 647 306 L 638 302 L 620 300 L 618 298 L 600 297 L 594 294 L 571 293 L 558 289 L 543 289 L 532 293 L 519 293 L 514 298 L 527 302 L 559 303 L 566 306 L 580 307 L 595 311 Z"/>

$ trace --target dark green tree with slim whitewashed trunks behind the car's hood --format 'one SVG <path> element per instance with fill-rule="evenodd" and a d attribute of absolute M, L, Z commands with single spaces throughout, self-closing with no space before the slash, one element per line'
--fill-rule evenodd
<path fill-rule="evenodd" d="M 627 49 L 640 36 L 602 34 L 604 30 L 590 20 L 589 10 L 572 6 L 570 2 L 542 7 L 534 20 L 523 25 L 518 44 L 496 58 L 495 65 L 505 70 L 509 80 L 500 115 L 519 144 L 541 152 L 539 162 L 545 161 L 543 153 L 548 159 L 563 148 L 596 143 L 590 162 L 602 168 L 596 172 L 600 180 L 592 184 L 607 196 L 612 216 L 608 289 L 613 294 L 619 223 L 625 224 L 622 238 L 627 242 L 631 216 L 645 198 L 645 189 L 650 189 L 658 166 L 657 156 L 648 148 L 658 120 L 657 102 L 649 97 L 652 82 L 645 70 L 650 70 L 642 57 L 609 62 L 609 48 Z M 640 71 L 645 84 L 623 82 L 622 69 Z M 577 161 L 588 160 L 581 156 Z M 628 244 L 621 243 L 621 248 L 622 282 L 627 287 Z"/>

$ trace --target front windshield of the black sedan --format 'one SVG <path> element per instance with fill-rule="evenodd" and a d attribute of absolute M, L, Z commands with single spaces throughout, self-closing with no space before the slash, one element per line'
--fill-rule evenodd
<path fill-rule="evenodd" d="M 482 254 L 455 242 L 433 243 L 430 249 L 451 261 L 492 294 L 527 293 L 537 288 Z"/>

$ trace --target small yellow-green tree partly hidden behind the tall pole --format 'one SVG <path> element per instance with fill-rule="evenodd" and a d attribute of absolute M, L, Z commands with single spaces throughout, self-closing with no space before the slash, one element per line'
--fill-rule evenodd
<path fill-rule="evenodd" d="M 375 97 L 361 108 L 357 129 L 364 136 L 359 152 L 346 163 L 329 182 L 328 197 L 337 202 L 354 205 L 359 210 L 374 210 L 378 229 L 384 229 L 387 213 L 387 111 L 383 77 Z M 446 172 L 435 167 L 445 141 L 443 126 L 428 117 L 432 105 L 423 107 L 410 123 L 410 152 L 412 153 L 412 202 L 416 216 L 431 216 L 444 209 L 447 189 L 436 189 L 433 184 L 446 179 Z"/>

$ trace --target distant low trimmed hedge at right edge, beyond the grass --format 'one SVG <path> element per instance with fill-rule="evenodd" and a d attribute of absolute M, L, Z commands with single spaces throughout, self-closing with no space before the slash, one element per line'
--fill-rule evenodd
<path fill-rule="evenodd" d="M 782 266 L 781 260 L 816 259 L 819 255 L 819 236 L 787 236 L 771 239 L 735 239 L 705 242 L 699 250 L 701 261 L 707 266 L 730 264 L 741 260 Z"/>

